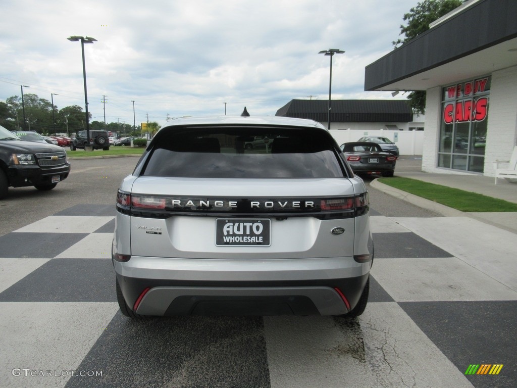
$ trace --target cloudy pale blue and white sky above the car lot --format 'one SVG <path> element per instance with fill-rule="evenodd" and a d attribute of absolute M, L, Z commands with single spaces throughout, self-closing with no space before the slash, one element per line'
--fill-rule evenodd
<path fill-rule="evenodd" d="M 393 49 L 419 0 L 2 0 L 0 100 L 35 93 L 92 120 L 274 115 L 294 98 L 391 99 L 364 92 L 364 67 Z M 57 94 L 57 95 L 56 95 Z M 402 97 L 403 98 L 403 97 Z M 224 104 L 226 102 L 226 105 Z"/>

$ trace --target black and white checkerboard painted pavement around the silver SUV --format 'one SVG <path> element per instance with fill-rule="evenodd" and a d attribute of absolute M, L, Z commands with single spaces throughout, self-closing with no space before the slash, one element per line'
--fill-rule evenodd
<path fill-rule="evenodd" d="M 372 212 L 370 302 L 357 321 L 134 322 L 116 303 L 114 216 L 74 206 L 0 236 L 0 386 L 517 386 L 515 234 Z M 504 366 L 466 376 L 470 364 Z"/>

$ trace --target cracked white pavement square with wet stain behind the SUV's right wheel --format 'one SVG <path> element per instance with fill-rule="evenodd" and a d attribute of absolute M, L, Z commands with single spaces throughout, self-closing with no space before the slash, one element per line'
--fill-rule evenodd
<path fill-rule="evenodd" d="M 472 387 L 394 302 L 369 303 L 356 323 L 264 317 L 264 332 L 271 388 Z"/>

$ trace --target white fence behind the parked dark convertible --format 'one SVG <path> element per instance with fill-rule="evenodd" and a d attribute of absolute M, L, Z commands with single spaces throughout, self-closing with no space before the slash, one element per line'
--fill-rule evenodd
<path fill-rule="evenodd" d="M 338 144 L 358 141 L 363 136 L 383 136 L 399 147 L 400 155 L 422 155 L 423 131 L 390 131 L 361 129 L 331 129 Z"/>

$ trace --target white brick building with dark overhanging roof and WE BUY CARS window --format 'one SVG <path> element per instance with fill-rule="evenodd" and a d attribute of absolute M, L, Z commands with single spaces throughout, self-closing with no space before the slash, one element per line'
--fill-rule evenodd
<path fill-rule="evenodd" d="M 367 91 L 427 91 L 422 170 L 494 176 L 517 143 L 517 1 L 471 0 L 366 67 Z"/>

